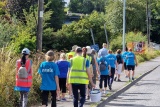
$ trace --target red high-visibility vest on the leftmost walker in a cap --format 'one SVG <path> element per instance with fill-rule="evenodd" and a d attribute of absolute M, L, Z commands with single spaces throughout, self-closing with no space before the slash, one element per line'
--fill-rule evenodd
<path fill-rule="evenodd" d="M 19 87 L 31 87 L 32 85 L 32 62 L 31 60 L 26 60 L 25 67 L 28 72 L 28 77 L 25 79 L 18 78 L 18 69 L 21 67 L 21 60 L 17 61 L 17 72 L 16 72 L 16 86 Z"/>

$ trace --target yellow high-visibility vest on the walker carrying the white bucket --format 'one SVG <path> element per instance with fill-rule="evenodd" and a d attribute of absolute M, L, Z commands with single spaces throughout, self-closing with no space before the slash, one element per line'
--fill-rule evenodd
<path fill-rule="evenodd" d="M 86 72 L 86 59 L 82 56 L 76 56 L 71 59 L 71 71 L 68 78 L 69 83 L 89 84 Z"/>

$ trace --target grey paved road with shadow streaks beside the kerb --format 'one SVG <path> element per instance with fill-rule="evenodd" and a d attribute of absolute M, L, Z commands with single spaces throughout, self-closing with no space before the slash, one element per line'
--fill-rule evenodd
<path fill-rule="evenodd" d="M 160 107 L 160 67 L 105 107 Z"/>

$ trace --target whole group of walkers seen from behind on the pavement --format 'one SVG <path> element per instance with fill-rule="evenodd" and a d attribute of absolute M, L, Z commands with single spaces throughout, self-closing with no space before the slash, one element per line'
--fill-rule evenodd
<path fill-rule="evenodd" d="M 90 98 L 91 89 L 95 88 L 99 78 L 99 89 L 106 93 L 107 87 L 112 90 L 113 81 L 121 81 L 120 75 L 124 65 L 125 75 L 129 81 L 134 80 L 134 69 L 137 65 L 135 54 L 130 48 L 121 54 L 107 49 L 103 43 L 98 53 L 90 46 L 79 47 L 74 45 L 69 53 L 61 53 L 59 60 L 54 61 L 54 52 L 49 50 L 45 54 L 45 61 L 39 66 L 38 73 L 42 80 L 42 106 L 48 106 L 48 96 L 51 93 L 51 107 L 56 107 L 56 101 L 66 101 L 65 94 L 69 91 L 73 98 L 74 107 L 83 107 L 85 100 Z M 22 58 L 17 60 L 15 90 L 20 92 L 20 107 L 27 107 L 28 93 L 32 85 L 32 61 L 28 58 L 30 50 L 22 50 Z M 26 78 L 20 78 L 20 68 L 25 67 Z M 132 78 L 130 72 L 132 71 Z M 22 72 L 21 72 L 22 75 Z M 104 83 L 104 88 L 103 88 Z"/>

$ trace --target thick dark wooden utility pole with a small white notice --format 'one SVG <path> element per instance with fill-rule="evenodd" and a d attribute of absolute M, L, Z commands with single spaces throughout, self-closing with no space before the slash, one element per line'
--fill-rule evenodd
<path fill-rule="evenodd" d="M 42 33 L 43 33 L 43 6 L 44 0 L 38 0 L 38 28 L 37 28 L 37 50 L 42 51 Z"/>

